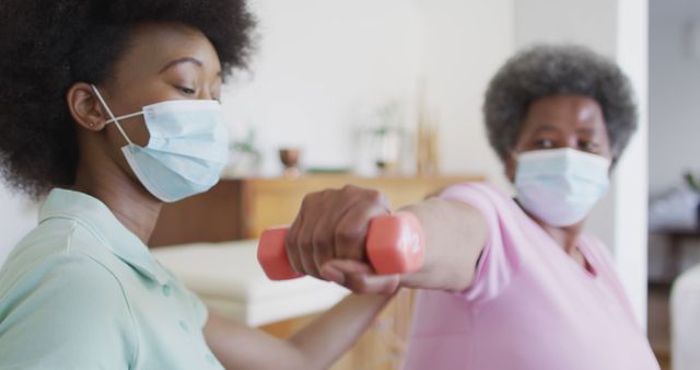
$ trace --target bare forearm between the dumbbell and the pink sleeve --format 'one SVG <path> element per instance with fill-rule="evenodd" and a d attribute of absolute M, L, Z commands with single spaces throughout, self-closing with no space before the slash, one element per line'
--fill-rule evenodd
<path fill-rule="evenodd" d="M 401 286 L 452 291 L 468 288 L 489 231 L 479 210 L 430 198 L 400 211 L 416 215 L 425 234 L 425 263 L 420 270 L 401 276 Z"/>

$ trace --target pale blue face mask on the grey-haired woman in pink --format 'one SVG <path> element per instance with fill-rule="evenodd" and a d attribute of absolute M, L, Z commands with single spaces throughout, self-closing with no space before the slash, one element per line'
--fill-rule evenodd
<path fill-rule="evenodd" d="M 569 148 L 521 153 L 515 173 L 517 200 L 547 224 L 575 224 L 607 193 L 609 169 L 606 158 Z"/>

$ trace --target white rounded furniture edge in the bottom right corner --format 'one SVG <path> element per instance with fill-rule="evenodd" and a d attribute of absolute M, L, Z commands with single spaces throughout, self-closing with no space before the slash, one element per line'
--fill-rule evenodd
<path fill-rule="evenodd" d="M 673 369 L 700 369 L 700 265 L 674 281 L 670 322 Z"/>

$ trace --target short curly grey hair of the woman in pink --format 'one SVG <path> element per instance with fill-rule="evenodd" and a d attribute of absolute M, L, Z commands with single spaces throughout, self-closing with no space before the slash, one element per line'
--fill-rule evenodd
<path fill-rule="evenodd" d="M 578 45 L 536 45 L 505 62 L 491 80 L 483 116 L 491 147 L 501 160 L 514 148 L 529 105 L 539 97 L 582 94 L 603 111 L 612 163 L 637 130 L 632 86 L 611 60 Z"/>

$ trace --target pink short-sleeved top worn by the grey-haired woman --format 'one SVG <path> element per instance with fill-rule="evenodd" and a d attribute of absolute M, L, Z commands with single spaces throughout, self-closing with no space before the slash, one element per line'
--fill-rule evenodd
<path fill-rule="evenodd" d="M 581 238 L 588 271 L 492 187 L 441 197 L 477 207 L 490 236 L 469 289 L 419 292 L 405 369 L 658 369 L 599 241 Z"/>

